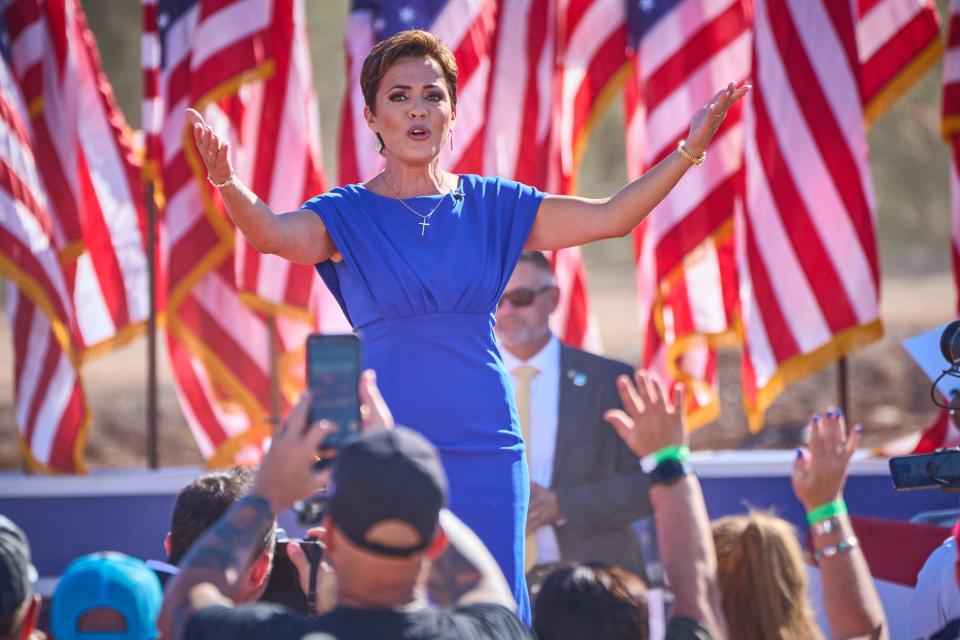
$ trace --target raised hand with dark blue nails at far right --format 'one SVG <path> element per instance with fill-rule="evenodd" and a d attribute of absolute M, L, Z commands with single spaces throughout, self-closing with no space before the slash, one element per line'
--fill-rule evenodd
<path fill-rule="evenodd" d="M 807 511 L 843 497 L 850 457 L 860 432 L 847 434 L 841 411 L 827 411 L 810 420 L 810 442 L 797 450 L 793 465 L 793 492 Z"/>

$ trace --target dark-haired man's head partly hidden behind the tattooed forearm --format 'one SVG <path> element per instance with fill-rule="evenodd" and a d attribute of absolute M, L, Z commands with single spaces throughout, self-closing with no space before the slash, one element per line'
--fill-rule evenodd
<path fill-rule="evenodd" d="M 197 538 L 209 529 L 234 502 L 253 486 L 254 473 L 246 467 L 232 467 L 206 473 L 180 491 L 170 519 L 170 533 L 164 541 L 170 564 L 176 565 Z M 252 602 L 263 595 L 273 563 L 275 531 L 270 530 L 254 553 L 244 574 L 239 602 Z"/>

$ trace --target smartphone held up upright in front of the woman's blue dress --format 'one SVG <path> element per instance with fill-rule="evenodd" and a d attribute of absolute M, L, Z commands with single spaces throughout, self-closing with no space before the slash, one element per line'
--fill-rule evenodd
<path fill-rule="evenodd" d="M 309 420 L 329 420 L 337 430 L 321 450 L 339 449 L 360 433 L 360 340 L 352 334 L 307 336 Z"/>

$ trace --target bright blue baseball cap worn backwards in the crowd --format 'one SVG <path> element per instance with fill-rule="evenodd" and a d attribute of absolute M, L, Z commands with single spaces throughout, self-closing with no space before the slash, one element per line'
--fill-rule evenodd
<path fill-rule="evenodd" d="M 53 592 L 50 626 L 57 640 L 157 638 L 163 591 L 156 574 L 142 560 L 122 553 L 92 553 L 64 571 Z M 123 616 L 123 631 L 80 631 L 92 609 L 112 609 Z"/>

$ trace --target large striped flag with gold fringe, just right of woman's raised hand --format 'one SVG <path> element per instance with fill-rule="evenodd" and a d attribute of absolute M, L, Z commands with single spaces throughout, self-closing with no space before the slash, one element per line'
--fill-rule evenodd
<path fill-rule="evenodd" d="M 737 221 L 752 426 L 793 380 L 882 334 L 872 184 L 846 3 L 758 0 Z"/>

